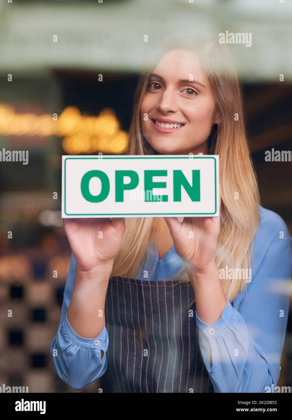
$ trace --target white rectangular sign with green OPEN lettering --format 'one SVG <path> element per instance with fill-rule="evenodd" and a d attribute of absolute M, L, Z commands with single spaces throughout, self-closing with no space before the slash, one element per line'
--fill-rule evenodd
<path fill-rule="evenodd" d="M 218 215 L 218 155 L 62 157 L 62 218 Z"/>

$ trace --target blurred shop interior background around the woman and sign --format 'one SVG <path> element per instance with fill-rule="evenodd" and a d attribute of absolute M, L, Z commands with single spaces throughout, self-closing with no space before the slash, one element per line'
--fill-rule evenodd
<path fill-rule="evenodd" d="M 63 383 L 50 354 L 70 262 L 61 156 L 123 153 L 139 71 L 165 35 L 251 32 L 251 47 L 230 45 L 250 151 L 263 207 L 292 234 L 292 163 L 265 160 L 272 148 L 292 150 L 292 4 L 8 1 L 0 0 L 0 151 L 28 150 L 29 164 L 0 162 L 0 385 L 97 392 L 98 381 L 78 391 Z M 291 308 L 278 385 L 292 386 Z"/>

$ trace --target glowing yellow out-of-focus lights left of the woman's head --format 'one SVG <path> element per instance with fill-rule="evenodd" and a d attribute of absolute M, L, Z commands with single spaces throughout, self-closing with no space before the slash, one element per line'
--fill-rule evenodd
<path fill-rule="evenodd" d="M 62 147 L 68 154 L 120 153 L 125 150 L 128 134 L 111 108 L 99 116 L 82 115 L 75 106 L 66 107 L 57 119 L 51 114 L 16 113 L 8 104 L 0 104 L 0 134 L 4 136 L 64 137 Z"/>

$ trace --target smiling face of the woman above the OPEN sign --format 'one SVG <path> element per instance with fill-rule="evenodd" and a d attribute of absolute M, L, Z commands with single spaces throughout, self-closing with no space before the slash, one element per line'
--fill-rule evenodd
<path fill-rule="evenodd" d="M 140 116 L 143 135 L 156 152 L 207 153 L 208 136 L 219 121 L 214 93 L 194 53 L 177 49 L 161 58 L 149 78 Z"/>

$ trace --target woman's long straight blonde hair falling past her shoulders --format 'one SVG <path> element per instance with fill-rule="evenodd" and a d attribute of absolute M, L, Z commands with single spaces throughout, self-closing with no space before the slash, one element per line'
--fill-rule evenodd
<path fill-rule="evenodd" d="M 260 198 L 256 174 L 248 150 L 242 108 L 242 93 L 235 64 L 225 45 L 214 42 L 212 36 L 175 34 L 165 38 L 141 72 L 134 96 L 133 116 L 129 129 L 127 155 L 155 153 L 141 131 L 140 109 L 147 82 L 154 66 L 169 50 L 184 48 L 197 54 L 216 98 L 216 112 L 221 120 L 208 139 L 209 154 L 219 155 L 221 189 L 221 226 L 216 251 L 220 269 L 248 269 L 252 263 L 253 237 L 259 221 Z M 238 114 L 238 118 L 236 115 Z M 238 197 L 238 199 L 237 199 Z M 146 262 L 149 246 L 155 244 L 159 218 L 125 218 L 125 233 L 117 253 L 111 277 L 136 278 Z M 151 276 L 152 266 L 148 272 Z M 171 279 L 189 281 L 185 268 Z M 246 286 L 245 278 L 222 279 L 222 287 L 230 302 Z"/>

